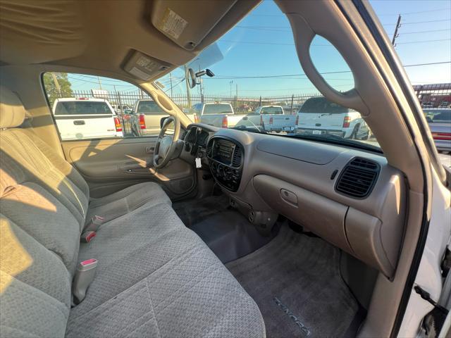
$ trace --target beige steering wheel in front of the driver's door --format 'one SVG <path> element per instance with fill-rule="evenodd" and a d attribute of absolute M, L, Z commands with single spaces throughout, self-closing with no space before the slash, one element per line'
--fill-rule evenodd
<path fill-rule="evenodd" d="M 174 134 L 166 135 L 166 131 L 171 123 L 174 125 Z M 158 138 L 156 139 L 153 161 L 155 169 L 163 168 L 171 160 L 175 151 L 175 143 L 179 136 L 180 120 L 175 118 L 175 116 L 169 116 L 164 120 Z"/>

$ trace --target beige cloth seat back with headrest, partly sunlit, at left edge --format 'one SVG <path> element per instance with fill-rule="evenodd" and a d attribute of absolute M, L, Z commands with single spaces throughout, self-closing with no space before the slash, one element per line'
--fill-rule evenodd
<path fill-rule="evenodd" d="M 63 337 L 89 190 L 0 87 L 0 336 Z"/>

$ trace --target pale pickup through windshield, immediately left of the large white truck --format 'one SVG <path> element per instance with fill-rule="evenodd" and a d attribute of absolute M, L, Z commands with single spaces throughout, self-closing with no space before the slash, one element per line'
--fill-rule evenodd
<path fill-rule="evenodd" d="M 285 115 L 282 106 L 261 106 L 256 109 L 260 115 L 259 125 L 266 132 L 293 132 L 297 125 L 297 115 Z M 252 119 L 252 122 L 254 120 Z"/>

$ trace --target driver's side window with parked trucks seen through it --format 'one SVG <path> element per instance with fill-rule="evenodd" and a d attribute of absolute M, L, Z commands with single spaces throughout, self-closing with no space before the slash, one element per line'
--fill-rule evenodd
<path fill-rule="evenodd" d="M 150 96 L 121 80 L 45 73 L 43 81 L 63 140 L 155 136 L 168 116 Z"/>

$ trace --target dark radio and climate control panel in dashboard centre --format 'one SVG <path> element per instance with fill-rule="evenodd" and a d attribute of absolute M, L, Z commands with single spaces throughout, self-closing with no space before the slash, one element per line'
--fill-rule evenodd
<path fill-rule="evenodd" d="M 222 187 L 236 192 L 240 187 L 244 149 L 227 137 L 211 137 L 206 146 L 211 175 Z"/>

